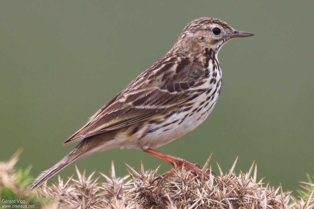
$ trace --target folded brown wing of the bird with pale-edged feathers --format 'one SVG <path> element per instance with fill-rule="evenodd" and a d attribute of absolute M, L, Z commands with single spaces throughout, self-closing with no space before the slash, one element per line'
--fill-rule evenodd
<path fill-rule="evenodd" d="M 163 57 L 111 99 L 63 144 L 165 114 L 189 102 L 208 71 L 188 58 Z"/>

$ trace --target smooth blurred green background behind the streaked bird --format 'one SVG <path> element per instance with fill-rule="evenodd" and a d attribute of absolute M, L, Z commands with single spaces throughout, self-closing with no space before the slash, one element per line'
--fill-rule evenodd
<path fill-rule="evenodd" d="M 0 160 L 19 148 L 17 167 L 35 177 L 75 146 L 62 142 L 139 73 L 162 57 L 182 29 L 216 17 L 255 33 L 219 53 L 223 87 L 208 119 L 158 150 L 224 172 L 253 160 L 258 178 L 285 191 L 314 175 L 313 6 L 310 1 L 2 1 Z M 127 163 L 159 173 L 171 166 L 140 150 L 114 149 L 74 165 L 127 175 Z M 52 181 L 57 180 L 55 176 Z M 50 181 L 51 182 L 51 181 Z"/>

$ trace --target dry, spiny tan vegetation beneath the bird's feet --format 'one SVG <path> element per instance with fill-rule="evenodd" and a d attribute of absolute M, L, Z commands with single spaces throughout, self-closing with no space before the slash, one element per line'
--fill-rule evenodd
<path fill-rule="evenodd" d="M 28 182 L 18 182 L 19 174 L 13 166 L 19 153 L 8 162 L 0 164 L 0 194 L 10 189 L 18 196 L 33 200 L 35 193 L 29 191 Z M 203 169 L 209 163 L 206 162 Z M 217 164 L 218 165 L 218 164 Z M 183 169 L 176 171 L 161 186 L 154 181 L 157 170 L 139 171 L 127 165 L 129 175 L 116 177 L 112 163 L 110 175 L 95 172 L 89 176 L 76 168 L 77 178 L 59 181 L 51 186 L 43 185 L 36 190 L 37 206 L 40 208 L 312 208 L 314 207 L 314 184 L 303 182 L 306 198 L 296 201 L 291 192 L 265 185 L 257 180 L 257 167 L 251 166 L 247 173 L 236 175 L 234 168 L 223 174 L 204 179 Z M 103 182 L 105 180 L 105 182 Z M 153 182 L 154 181 L 154 182 Z M 28 187 L 26 187 L 28 185 Z M 50 199 L 50 201 L 47 201 Z"/>

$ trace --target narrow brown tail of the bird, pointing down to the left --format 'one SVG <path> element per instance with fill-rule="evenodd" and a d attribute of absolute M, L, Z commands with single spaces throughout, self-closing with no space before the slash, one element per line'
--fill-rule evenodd
<path fill-rule="evenodd" d="M 65 156 L 62 160 L 60 160 L 56 165 L 52 168 L 42 172 L 36 179 L 33 185 L 31 186 L 31 190 L 35 190 L 41 184 L 43 184 L 46 180 L 50 179 L 53 175 L 57 174 L 60 170 L 70 165 L 75 160 L 82 157 L 82 148 L 84 147 L 84 140 L 78 144 L 67 156 Z"/>

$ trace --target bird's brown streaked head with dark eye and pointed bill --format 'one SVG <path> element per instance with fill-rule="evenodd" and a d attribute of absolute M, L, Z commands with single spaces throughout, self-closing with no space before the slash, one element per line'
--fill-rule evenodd
<path fill-rule="evenodd" d="M 186 50 L 211 48 L 218 53 L 228 40 L 252 35 L 254 34 L 237 31 L 217 18 L 198 18 L 183 29 L 175 46 L 183 46 Z"/>

